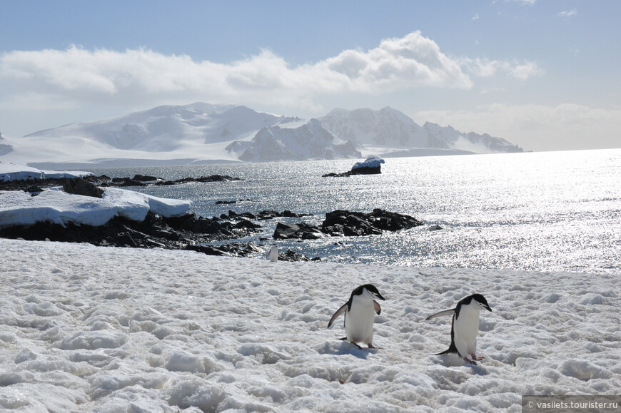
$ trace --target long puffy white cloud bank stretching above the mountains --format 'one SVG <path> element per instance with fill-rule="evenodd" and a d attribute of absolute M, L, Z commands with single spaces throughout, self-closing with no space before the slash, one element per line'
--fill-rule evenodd
<path fill-rule="evenodd" d="M 375 49 L 350 49 L 292 67 L 268 49 L 232 63 L 194 61 L 148 49 L 11 51 L 0 56 L 0 104 L 39 95 L 49 104 L 166 99 L 313 105 L 318 95 L 383 93 L 403 88 L 471 88 L 459 64 L 416 31 Z"/>

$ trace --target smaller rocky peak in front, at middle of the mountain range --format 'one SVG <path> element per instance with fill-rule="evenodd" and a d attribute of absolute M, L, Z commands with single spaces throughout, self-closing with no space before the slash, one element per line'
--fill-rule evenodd
<path fill-rule="evenodd" d="M 290 124 L 291 125 L 291 124 Z M 251 141 L 235 141 L 226 147 L 248 162 L 273 160 L 305 160 L 360 158 L 358 144 L 343 141 L 317 119 L 301 126 L 268 126 L 261 129 Z"/>

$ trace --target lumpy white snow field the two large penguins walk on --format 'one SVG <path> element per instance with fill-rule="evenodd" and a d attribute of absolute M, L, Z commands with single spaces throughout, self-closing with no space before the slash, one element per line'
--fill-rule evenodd
<path fill-rule="evenodd" d="M 621 392 L 619 275 L 0 249 L 0 409 L 520 412 L 522 394 Z M 326 329 L 366 282 L 381 350 Z M 485 360 L 433 356 L 450 317 L 425 317 L 473 292 Z"/>

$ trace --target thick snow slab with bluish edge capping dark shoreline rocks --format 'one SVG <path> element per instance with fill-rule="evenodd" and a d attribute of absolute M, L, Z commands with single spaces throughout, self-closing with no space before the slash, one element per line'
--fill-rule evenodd
<path fill-rule="evenodd" d="M 103 198 L 65 193 L 61 188 L 31 196 L 21 190 L 0 191 L 0 228 L 51 222 L 61 225 L 104 225 L 117 215 L 144 220 L 149 210 L 162 216 L 187 213 L 191 202 L 105 188 Z"/>

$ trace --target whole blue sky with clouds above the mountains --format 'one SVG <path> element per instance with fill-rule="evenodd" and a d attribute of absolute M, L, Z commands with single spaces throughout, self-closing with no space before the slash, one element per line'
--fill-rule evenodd
<path fill-rule="evenodd" d="M 0 0 L 0 133 L 202 101 L 621 148 L 620 17 L 615 0 Z"/>

